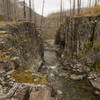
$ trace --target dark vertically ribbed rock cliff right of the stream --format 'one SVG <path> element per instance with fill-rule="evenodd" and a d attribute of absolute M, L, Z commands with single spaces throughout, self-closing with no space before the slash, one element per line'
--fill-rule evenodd
<path fill-rule="evenodd" d="M 94 66 L 100 57 L 100 15 L 67 17 L 57 31 L 55 43 L 64 58 L 85 58 L 87 64 Z"/>

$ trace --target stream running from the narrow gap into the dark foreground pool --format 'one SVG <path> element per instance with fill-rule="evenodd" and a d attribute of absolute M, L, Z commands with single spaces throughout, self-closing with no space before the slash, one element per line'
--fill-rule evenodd
<path fill-rule="evenodd" d="M 49 41 L 50 42 L 50 41 Z M 49 47 L 48 47 L 49 48 Z M 65 78 L 62 76 L 59 76 L 61 74 L 58 67 L 52 68 L 52 66 L 59 65 L 57 61 L 56 52 L 52 51 L 53 47 L 50 47 L 50 49 L 45 50 L 45 61 L 48 64 L 48 67 L 52 70 L 49 71 L 49 73 L 53 73 L 51 77 L 55 78 L 51 80 L 51 83 L 56 91 L 58 91 L 58 94 L 56 95 L 56 99 L 53 100 L 100 100 L 100 95 L 94 94 L 94 88 L 89 83 L 88 80 L 84 79 L 81 81 L 75 81 L 70 79 L 69 77 Z M 56 64 L 57 62 L 57 64 Z M 50 65 L 51 63 L 51 65 Z M 60 70 L 61 71 L 61 70 Z M 71 75 L 72 72 L 63 72 L 62 74 L 68 73 Z"/>

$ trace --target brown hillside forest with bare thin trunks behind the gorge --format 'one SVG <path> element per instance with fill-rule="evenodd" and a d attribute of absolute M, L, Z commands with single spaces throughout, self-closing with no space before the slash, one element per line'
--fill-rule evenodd
<path fill-rule="evenodd" d="M 45 0 L 41 4 L 41 15 L 35 12 L 34 0 L 29 0 L 29 5 L 26 3 L 26 0 L 0 0 L 0 20 L 31 21 L 35 23 L 37 28 L 42 29 L 43 38 L 53 39 L 57 28 L 64 22 L 66 16 L 89 16 L 99 13 L 100 0 L 89 0 L 86 7 L 83 7 L 82 3 L 82 0 L 69 0 L 70 9 L 65 10 L 63 0 L 61 0 L 60 12 L 58 11 L 44 17 Z"/>

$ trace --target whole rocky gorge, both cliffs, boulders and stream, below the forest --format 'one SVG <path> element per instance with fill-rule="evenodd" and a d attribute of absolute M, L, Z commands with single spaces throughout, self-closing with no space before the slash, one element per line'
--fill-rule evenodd
<path fill-rule="evenodd" d="M 33 23 L 0 27 L 0 99 L 99 100 L 100 18 L 66 18 L 56 40 Z"/>

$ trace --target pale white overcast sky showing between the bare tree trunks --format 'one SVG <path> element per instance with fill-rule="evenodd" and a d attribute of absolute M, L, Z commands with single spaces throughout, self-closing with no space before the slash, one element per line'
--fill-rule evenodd
<path fill-rule="evenodd" d="M 21 0 L 23 1 L 23 0 Z M 27 2 L 29 0 L 26 0 Z M 33 0 L 32 0 L 33 1 Z M 60 1 L 61 0 L 45 0 L 45 7 L 44 7 L 44 16 L 47 16 L 48 14 L 52 13 L 52 12 L 57 12 L 60 10 Z M 87 5 L 86 1 L 87 0 L 82 0 L 82 5 L 83 7 L 85 7 Z M 42 2 L 43 0 L 34 0 L 35 3 L 35 11 L 39 14 L 42 13 Z M 69 5 L 69 0 L 63 0 L 63 8 L 69 9 L 70 5 Z"/>

